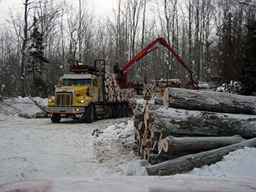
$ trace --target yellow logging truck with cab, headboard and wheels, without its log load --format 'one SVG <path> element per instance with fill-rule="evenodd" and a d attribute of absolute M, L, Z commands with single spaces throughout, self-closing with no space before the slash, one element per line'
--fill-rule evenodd
<path fill-rule="evenodd" d="M 61 118 L 82 119 L 91 123 L 95 118 L 120 118 L 129 115 L 129 101 L 105 100 L 105 60 L 94 66 L 75 64 L 64 74 L 55 95 L 48 99 L 46 112 L 53 123 Z"/>

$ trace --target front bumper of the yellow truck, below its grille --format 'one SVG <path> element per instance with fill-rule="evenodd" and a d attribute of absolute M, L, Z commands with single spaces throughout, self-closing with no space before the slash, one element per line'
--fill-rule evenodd
<path fill-rule="evenodd" d="M 75 118 L 82 118 L 85 112 L 85 107 L 46 107 L 46 113 L 48 118 L 51 118 L 53 114 L 60 114 L 61 117 L 75 116 Z"/>

